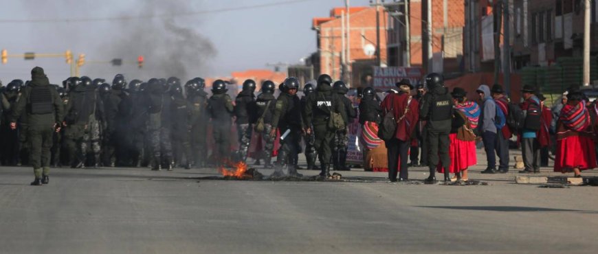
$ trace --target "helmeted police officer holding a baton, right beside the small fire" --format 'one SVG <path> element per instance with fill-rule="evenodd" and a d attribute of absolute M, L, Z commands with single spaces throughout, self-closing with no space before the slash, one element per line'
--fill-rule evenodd
<path fill-rule="evenodd" d="M 280 148 L 278 149 L 278 158 L 274 167 L 272 176 L 297 176 L 302 174 L 297 172 L 296 157 L 301 139 L 303 122 L 301 117 L 300 99 L 297 96 L 299 90 L 299 80 L 297 78 L 287 78 L 280 85 L 280 93 L 274 106 L 274 115 L 272 116 L 271 137 L 276 137 L 276 129 L 280 131 Z M 285 168 L 286 171 L 285 172 Z"/>

